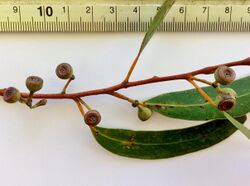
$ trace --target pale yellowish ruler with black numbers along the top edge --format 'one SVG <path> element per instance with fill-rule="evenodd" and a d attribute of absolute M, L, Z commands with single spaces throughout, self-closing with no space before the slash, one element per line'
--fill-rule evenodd
<path fill-rule="evenodd" d="M 0 32 L 145 32 L 163 0 L 0 0 Z M 159 31 L 250 31 L 250 0 L 177 0 Z"/>

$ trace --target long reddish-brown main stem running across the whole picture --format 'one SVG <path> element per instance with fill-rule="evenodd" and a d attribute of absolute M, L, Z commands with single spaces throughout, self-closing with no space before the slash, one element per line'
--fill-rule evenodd
<path fill-rule="evenodd" d="M 192 71 L 189 73 L 184 74 L 178 74 L 178 75 L 172 75 L 172 76 L 163 76 L 158 77 L 154 76 L 152 78 L 139 80 L 139 81 L 133 81 L 133 82 L 121 82 L 119 84 L 116 84 L 111 87 L 103 88 L 103 89 L 96 89 L 96 90 L 89 90 L 84 92 L 78 92 L 78 93 L 67 93 L 67 94 L 34 94 L 33 98 L 43 98 L 43 99 L 78 99 L 80 97 L 85 96 L 92 96 L 92 95 L 99 95 L 99 94 L 111 94 L 115 91 L 118 91 L 120 89 L 129 88 L 129 87 L 135 87 L 145 84 L 151 84 L 151 83 L 158 83 L 158 82 L 165 82 L 165 81 L 171 81 L 171 80 L 189 80 L 191 77 L 194 77 L 196 75 L 200 74 L 211 74 L 213 73 L 219 66 L 225 65 L 225 66 L 250 66 L 250 58 L 246 58 L 244 60 L 210 66 L 206 68 L 202 68 L 196 71 Z M 4 89 L 0 89 L 0 96 L 2 96 L 4 93 Z M 29 93 L 22 93 L 23 97 L 28 97 Z"/>

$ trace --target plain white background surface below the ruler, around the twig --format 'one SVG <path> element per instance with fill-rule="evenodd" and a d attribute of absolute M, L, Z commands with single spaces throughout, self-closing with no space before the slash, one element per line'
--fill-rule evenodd
<path fill-rule="evenodd" d="M 250 56 L 249 33 L 158 33 L 146 47 L 133 80 L 170 75 Z M 57 64 L 74 67 L 69 92 L 102 88 L 125 76 L 143 34 L 0 34 L 0 87 L 26 91 L 29 75 L 44 79 L 41 93 L 61 91 Z M 249 67 L 235 68 L 238 77 Z M 212 76 L 206 77 L 212 79 Z M 249 85 L 250 86 L 250 85 Z M 135 99 L 183 90 L 182 81 L 130 88 Z M 137 119 L 130 104 L 102 95 L 85 99 L 103 116 L 101 126 L 135 130 L 182 128 L 187 122 L 154 114 Z M 99 146 L 74 102 L 49 100 L 30 110 L 0 100 L 0 185 L 4 186 L 238 186 L 250 185 L 249 140 L 236 132 L 211 148 L 163 160 L 138 160 L 114 155 Z M 248 121 L 247 127 L 250 127 Z"/>

